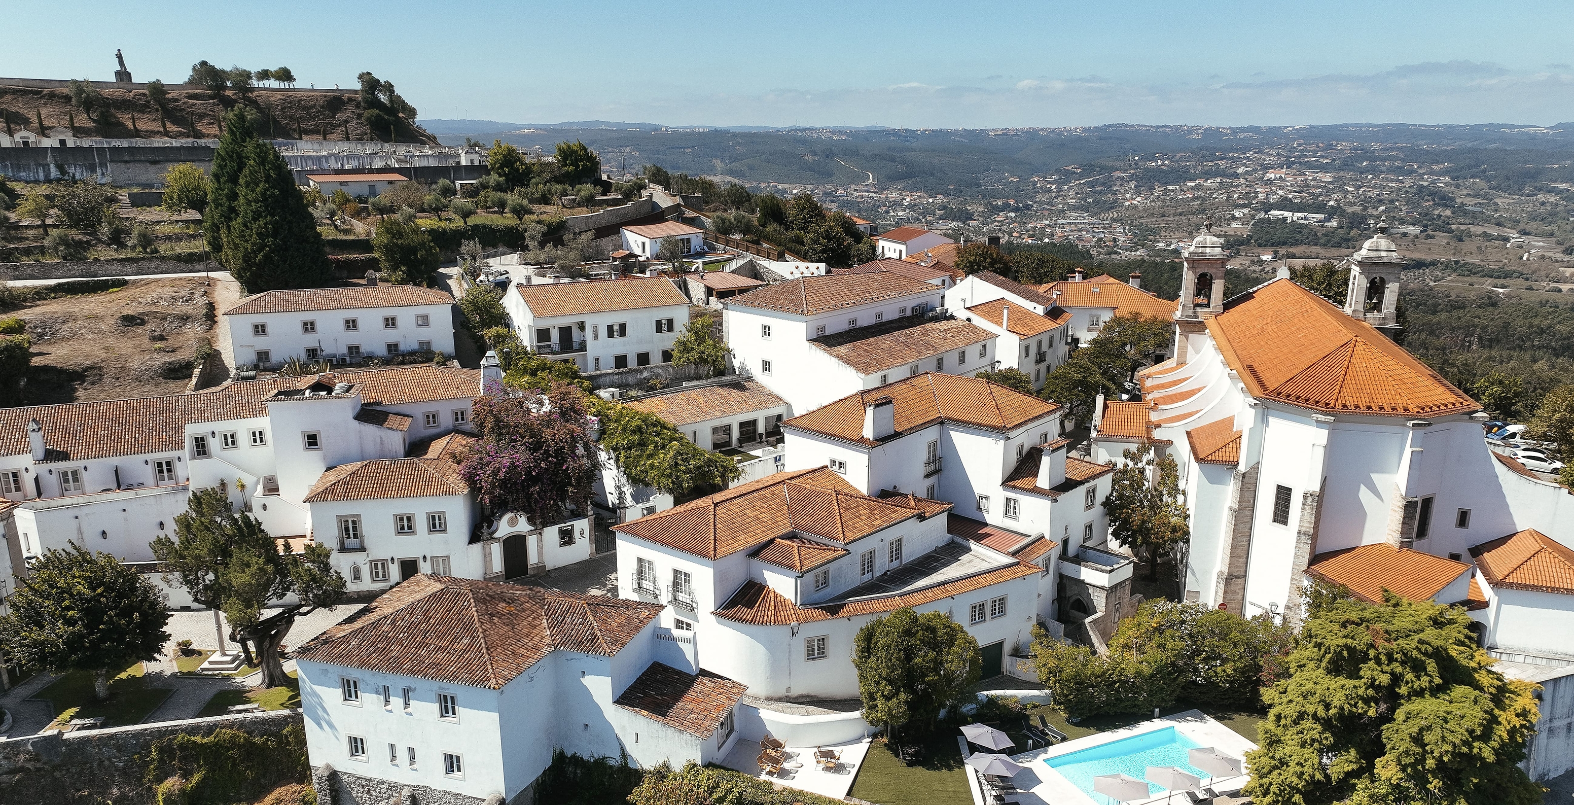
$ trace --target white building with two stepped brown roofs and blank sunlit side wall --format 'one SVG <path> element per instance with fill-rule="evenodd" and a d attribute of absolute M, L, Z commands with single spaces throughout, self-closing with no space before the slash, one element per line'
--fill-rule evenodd
<path fill-rule="evenodd" d="M 793 414 L 919 372 L 992 369 L 995 336 L 938 317 L 943 293 L 891 273 L 778 282 L 722 302 L 726 339 Z"/>

